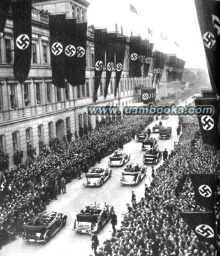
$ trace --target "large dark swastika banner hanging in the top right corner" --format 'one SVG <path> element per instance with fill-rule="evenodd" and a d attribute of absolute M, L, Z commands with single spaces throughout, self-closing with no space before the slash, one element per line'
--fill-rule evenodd
<path fill-rule="evenodd" d="M 220 2 L 212 0 L 194 0 L 198 23 L 202 34 L 203 45 L 207 57 L 207 66 L 209 70 L 212 90 L 220 93 Z M 205 20 L 205 22 L 204 22 Z"/>

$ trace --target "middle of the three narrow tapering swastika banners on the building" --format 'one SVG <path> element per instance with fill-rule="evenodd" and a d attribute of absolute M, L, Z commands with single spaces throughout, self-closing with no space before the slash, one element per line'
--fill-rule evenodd
<path fill-rule="evenodd" d="M 112 75 L 112 69 L 114 68 L 115 59 L 115 43 L 117 39 L 117 33 L 110 33 L 106 36 L 106 79 L 105 79 L 105 91 L 104 97 L 108 94 L 108 85 Z"/>

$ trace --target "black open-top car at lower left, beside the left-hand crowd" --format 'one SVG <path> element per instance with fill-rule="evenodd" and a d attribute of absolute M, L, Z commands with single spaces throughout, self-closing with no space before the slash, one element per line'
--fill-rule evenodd
<path fill-rule="evenodd" d="M 55 211 L 40 213 L 37 218 L 23 225 L 23 239 L 29 242 L 47 243 L 50 237 L 66 225 L 66 219 L 66 215 Z"/>

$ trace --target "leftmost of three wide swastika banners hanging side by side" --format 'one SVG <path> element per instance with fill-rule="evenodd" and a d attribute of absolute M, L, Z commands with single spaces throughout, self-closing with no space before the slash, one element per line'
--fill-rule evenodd
<path fill-rule="evenodd" d="M 51 68 L 52 83 L 56 87 L 65 88 L 65 63 L 64 63 L 64 45 L 66 38 L 66 15 L 50 15 L 50 50 L 51 50 Z"/>

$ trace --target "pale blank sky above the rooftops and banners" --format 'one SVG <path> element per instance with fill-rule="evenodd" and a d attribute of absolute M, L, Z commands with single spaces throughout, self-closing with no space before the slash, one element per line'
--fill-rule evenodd
<path fill-rule="evenodd" d="M 87 0 L 88 25 L 107 27 L 108 31 L 118 31 L 130 36 L 140 34 L 154 43 L 154 50 L 166 54 L 177 54 L 186 61 L 186 68 L 207 70 L 205 51 L 196 9 L 193 0 Z M 130 11 L 130 3 L 136 13 Z M 153 36 L 147 33 L 147 28 Z M 161 33 L 167 40 L 161 40 Z M 175 46 L 174 41 L 179 44 Z"/>

